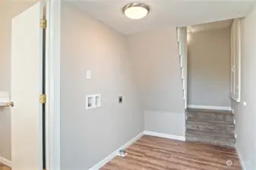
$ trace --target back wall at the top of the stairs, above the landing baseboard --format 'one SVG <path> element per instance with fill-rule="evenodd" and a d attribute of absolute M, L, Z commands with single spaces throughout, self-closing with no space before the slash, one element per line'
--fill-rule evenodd
<path fill-rule="evenodd" d="M 191 33 L 188 105 L 230 107 L 230 28 Z"/>

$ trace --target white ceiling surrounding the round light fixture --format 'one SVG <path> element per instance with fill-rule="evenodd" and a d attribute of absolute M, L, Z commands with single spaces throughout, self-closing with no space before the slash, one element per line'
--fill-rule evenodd
<path fill-rule="evenodd" d="M 150 14 L 141 20 L 131 20 L 122 13 L 122 7 L 134 0 L 69 2 L 123 34 L 245 17 L 254 5 L 254 0 L 138 0 L 150 6 Z"/>

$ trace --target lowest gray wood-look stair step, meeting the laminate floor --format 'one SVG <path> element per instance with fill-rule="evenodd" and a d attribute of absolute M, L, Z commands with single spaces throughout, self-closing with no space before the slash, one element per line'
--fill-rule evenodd
<path fill-rule="evenodd" d="M 235 146 L 235 137 L 233 134 L 216 133 L 209 131 L 186 131 L 186 141 L 203 142 L 220 146 Z"/>

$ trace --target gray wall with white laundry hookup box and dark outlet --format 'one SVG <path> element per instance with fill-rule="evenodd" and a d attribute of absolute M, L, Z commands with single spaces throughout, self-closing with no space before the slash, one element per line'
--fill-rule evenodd
<path fill-rule="evenodd" d="M 61 22 L 61 165 L 84 170 L 141 133 L 144 116 L 124 37 L 64 3 Z M 87 94 L 101 107 L 85 110 Z"/>

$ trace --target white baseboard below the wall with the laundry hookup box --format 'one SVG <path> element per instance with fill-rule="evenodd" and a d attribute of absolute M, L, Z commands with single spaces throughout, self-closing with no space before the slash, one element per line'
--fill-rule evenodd
<path fill-rule="evenodd" d="M 103 167 L 107 162 L 111 161 L 115 156 L 119 154 L 119 150 L 124 150 L 125 148 L 129 147 L 131 144 L 133 144 L 135 141 L 140 139 L 144 134 L 144 131 L 141 132 L 140 134 L 137 134 L 131 141 L 128 141 L 126 144 L 124 144 L 122 147 L 119 147 L 119 149 L 115 150 L 113 153 L 111 153 L 109 156 L 107 156 L 105 159 L 94 165 L 92 168 L 89 170 L 98 170 Z"/>

